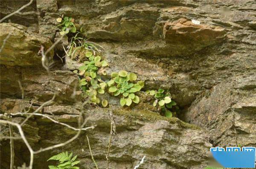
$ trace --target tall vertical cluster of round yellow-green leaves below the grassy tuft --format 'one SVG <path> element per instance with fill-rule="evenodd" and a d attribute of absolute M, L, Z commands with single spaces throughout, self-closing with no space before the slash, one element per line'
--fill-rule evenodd
<path fill-rule="evenodd" d="M 90 102 L 99 104 L 100 100 L 97 97 L 97 93 L 105 93 L 106 83 L 100 79 L 97 71 L 101 67 L 108 66 L 108 62 L 103 60 L 101 56 L 93 56 L 90 51 L 87 51 L 85 56 L 88 58 L 88 61 L 85 61 L 84 65 L 79 67 L 79 75 L 83 77 L 80 79 L 79 85 L 84 93 L 90 97 Z M 108 105 L 106 100 L 102 101 L 102 105 L 104 107 Z"/>

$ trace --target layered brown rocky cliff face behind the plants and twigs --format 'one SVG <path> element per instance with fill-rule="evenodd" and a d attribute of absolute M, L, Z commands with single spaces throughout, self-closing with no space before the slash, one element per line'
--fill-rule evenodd
<path fill-rule="evenodd" d="M 20 1 L 3 0 L 1 17 L 20 6 Z M 16 113 L 23 110 L 20 105 L 29 107 L 32 101 L 35 109 L 56 91 L 55 103 L 42 113 L 76 125 L 79 110 L 70 96 L 78 76 L 70 70 L 77 63 L 66 58 L 63 68 L 48 74 L 38 55 L 40 45 L 47 48 L 58 39 L 55 20 L 63 14 L 75 18 L 76 27 L 83 27 L 91 41 L 104 47 L 109 62 L 106 76 L 124 69 L 145 81 L 145 90 L 169 89 L 183 111 L 179 118 L 201 127 L 158 116 L 150 105 L 132 110 L 89 107 L 86 116 L 98 127 L 87 135 L 100 168 L 106 167 L 108 112 L 113 112 L 117 127 L 111 168 L 132 168 L 143 155 L 147 160 L 141 168 L 145 169 L 202 168 L 211 144 L 256 146 L 255 9 L 250 0 L 36 0 L 26 11 L 39 15 L 13 16 L 15 24 L 0 24 L 0 42 L 12 32 L 0 58 L 1 112 Z M 61 50 L 51 51 L 48 57 Z M 24 87 L 25 100 L 17 80 Z M 74 135 L 44 118 L 31 119 L 24 130 L 35 149 Z M 8 144 L 1 145 L 1 157 L 9 154 Z M 15 164 L 20 165 L 27 162 L 28 152 L 18 145 Z M 79 155 L 82 168 L 94 167 L 83 133 L 68 147 L 38 155 L 35 168 L 47 168 L 42 161 L 66 149 Z M 9 157 L 4 157 L 1 167 L 8 168 Z"/>

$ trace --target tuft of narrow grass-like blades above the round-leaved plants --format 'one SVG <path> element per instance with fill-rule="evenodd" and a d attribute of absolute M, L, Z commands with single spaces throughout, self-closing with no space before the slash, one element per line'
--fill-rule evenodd
<path fill-rule="evenodd" d="M 76 51 L 79 49 L 85 49 L 87 51 L 92 51 L 93 53 L 101 53 L 103 49 L 102 46 L 88 41 L 85 37 L 84 34 L 81 33 L 83 32 L 82 28 L 80 29 L 80 32 L 77 31 L 76 35 L 71 38 L 70 44 L 68 46 L 69 52 L 68 56 L 71 56 L 71 59 L 73 59 L 74 54 Z"/>

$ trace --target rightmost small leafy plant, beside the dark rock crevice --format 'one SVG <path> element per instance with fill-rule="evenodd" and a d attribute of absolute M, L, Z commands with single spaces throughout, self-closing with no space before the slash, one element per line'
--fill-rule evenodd
<path fill-rule="evenodd" d="M 165 113 L 166 117 L 172 117 L 172 112 L 170 109 L 172 106 L 175 106 L 175 101 L 172 100 L 171 95 L 169 92 L 165 92 L 163 89 L 158 90 L 147 90 L 146 93 L 154 96 L 156 99 L 153 102 L 153 106 L 158 106 L 161 108 L 161 111 Z"/>

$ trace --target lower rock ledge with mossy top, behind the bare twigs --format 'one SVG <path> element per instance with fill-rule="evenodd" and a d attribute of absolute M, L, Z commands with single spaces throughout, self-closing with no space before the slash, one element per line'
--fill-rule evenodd
<path fill-rule="evenodd" d="M 40 104 L 34 100 L 31 112 Z M 29 101 L 4 99 L 1 110 L 5 113 L 17 113 L 24 108 L 28 109 L 29 106 Z M 74 106 L 53 103 L 44 107 L 41 113 L 60 122 L 77 126 L 79 109 Z M 99 168 L 106 168 L 105 156 L 110 138 L 110 113 L 113 114 L 116 125 L 116 133 L 113 135 L 109 154 L 111 169 L 133 168 L 144 155 L 146 158 L 141 169 L 198 169 L 206 165 L 206 152 L 211 144 L 209 144 L 209 135 L 204 130 L 186 124 L 177 118 L 166 118 L 148 110 L 94 108 L 87 109 L 83 116 L 88 118 L 86 126 L 97 125 L 96 128 L 87 130 L 86 133 L 83 132 L 78 139 L 62 147 L 63 151 L 72 151 L 78 155 L 78 159 L 81 160 L 81 168 L 94 168 L 86 135 L 89 137 L 90 146 Z M 24 119 L 22 117 L 13 118 L 14 121 Z M 3 129 L 7 130 L 4 132 L 5 134 L 8 133 L 7 127 Z M 76 134 L 76 131 L 53 124 L 49 119 L 40 116 L 32 117 L 23 130 L 35 150 L 67 141 Z M 15 136 L 17 135 L 18 132 L 15 130 Z M 35 138 L 35 136 L 37 137 Z M 22 141 L 17 142 L 19 142 L 20 148 L 17 149 L 15 162 L 28 161 L 27 149 Z M 9 142 L 2 144 L 6 145 Z M 53 149 L 35 156 L 34 167 L 37 169 L 47 168 L 47 164 L 50 164 L 46 162 L 47 159 L 58 152 L 60 149 Z M 5 149 L 5 153 L 5 157 L 8 158 L 9 151 L 7 149 Z"/>

